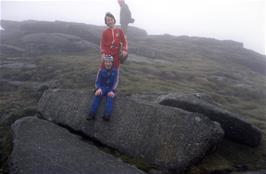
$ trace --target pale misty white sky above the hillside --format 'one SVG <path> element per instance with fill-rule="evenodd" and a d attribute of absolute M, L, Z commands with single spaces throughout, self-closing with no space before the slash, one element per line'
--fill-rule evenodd
<path fill-rule="evenodd" d="M 148 34 L 235 40 L 265 54 L 265 0 L 125 0 L 135 23 Z M 117 0 L 1 0 L 1 19 L 62 20 L 104 25 Z"/>

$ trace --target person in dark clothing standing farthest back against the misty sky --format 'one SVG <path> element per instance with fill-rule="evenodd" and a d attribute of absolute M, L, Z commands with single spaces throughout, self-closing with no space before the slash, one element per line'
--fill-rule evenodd
<path fill-rule="evenodd" d="M 131 17 L 131 12 L 128 8 L 128 5 L 124 0 L 118 0 L 120 5 L 120 24 L 121 28 L 124 31 L 124 34 L 127 35 L 127 27 L 129 23 L 134 23 L 134 19 Z"/>

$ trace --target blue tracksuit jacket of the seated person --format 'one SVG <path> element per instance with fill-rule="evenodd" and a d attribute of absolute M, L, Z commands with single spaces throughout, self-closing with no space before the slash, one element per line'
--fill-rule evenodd
<path fill-rule="evenodd" d="M 110 70 L 105 68 L 99 69 L 95 83 L 96 89 L 101 88 L 102 91 L 115 92 L 118 85 L 118 75 L 118 70 L 114 68 Z"/>

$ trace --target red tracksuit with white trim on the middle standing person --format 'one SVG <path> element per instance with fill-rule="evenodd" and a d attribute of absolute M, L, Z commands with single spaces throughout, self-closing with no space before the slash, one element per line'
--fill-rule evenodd
<path fill-rule="evenodd" d="M 107 28 L 102 33 L 100 49 L 101 54 L 112 55 L 114 57 L 115 68 L 119 68 L 119 46 L 120 42 L 123 44 L 123 51 L 127 51 L 127 41 L 124 32 L 120 28 Z M 103 67 L 103 65 L 102 65 Z"/>

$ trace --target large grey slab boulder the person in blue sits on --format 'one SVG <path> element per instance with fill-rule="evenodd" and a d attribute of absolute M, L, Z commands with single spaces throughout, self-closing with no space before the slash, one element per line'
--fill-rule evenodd
<path fill-rule="evenodd" d="M 184 110 L 118 96 L 110 122 L 87 121 L 92 93 L 47 90 L 38 108 L 44 119 L 80 131 L 160 169 L 183 171 L 204 157 L 223 137 L 219 123 Z M 102 106 L 104 104 L 102 103 Z"/>

